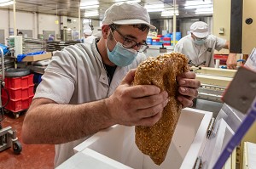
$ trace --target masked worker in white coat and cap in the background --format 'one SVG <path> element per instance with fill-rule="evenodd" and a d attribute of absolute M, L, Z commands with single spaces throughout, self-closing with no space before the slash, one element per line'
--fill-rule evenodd
<path fill-rule="evenodd" d="M 209 35 L 207 23 L 196 21 L 190 26 L 190 34 L 177 42 L 174 51 L 185 54 L 189 65 L 214 67 L 214 50 L 222 48 L 229 49 L 230 42 Z M 229 54 L 226 65 L 228 69 L 236 69 L 236 54 Z"/>

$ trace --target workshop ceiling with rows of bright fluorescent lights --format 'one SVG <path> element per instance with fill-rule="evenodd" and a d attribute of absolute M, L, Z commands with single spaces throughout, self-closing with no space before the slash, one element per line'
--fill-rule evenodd
<path fill-rule="evenodd" d="M 118 0 L 16 0 L 16 10 L 17 11 L 28 11 L 37 12 L 43 14 L 57 14 L 65 15 L 69 17 L 79 17 L 79 6 L 84 5 L 89 2 L 98 3 L 98 8 L 88 8 L 80 9 L 81 18 L 90 18 L 94 20 L 102 20 L 104 12 L 108 7 Z M 120 0 L 119 0 L 120 1 Z M 124 0 L 121 0 L 124 1 Z M 177 18 L 184 17 L 196 17 L 196 16 L 209 16 L 212 14 L 195 14 L 195 10 L 198 7 L 198 3 L 206 3 L 207 6 L 212 5 L 212 0 L 177 0 L 176 2 L 176 13 L 178 12 Z M 192 3 L 195 8 L 185 8 L 186 4 Z M 1 3 L 0 3 L 1 4 Z M 159 4 L 163 5 L 165 10 L 173 10 L 174 4 L 173 0 L 141 0 L 140 4 L 153 5 L 154 9 L 160 8 Z M 13 9 L 13 5 L 4 6 L 0 8 Z M 97 10 L 99 15 L 84 17 L 85 12 L 90 12 L 92 10 Z M 172 16 L 161 16 L 161 12 L 148 12 L 151 20 L 172 18 Z"/>

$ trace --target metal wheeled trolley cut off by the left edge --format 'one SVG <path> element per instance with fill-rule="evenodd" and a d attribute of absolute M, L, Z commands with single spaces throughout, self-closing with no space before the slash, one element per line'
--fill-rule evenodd
<path fill-rule="evenodd" d="M 2 58 L 2 79 L 1 79 L 1 87 L 0 87 L 0 96 L 1 96 L 1 88 L 4 87 L 4 55 L 3 49 L 0 48 L 0 54 Z M 7 91 L 6 91 L 7 92 Z M 12 127 L 2 127 L 3 121 L 3 104 L 2 99 L 0 97 L 0 152 L 4 149 L 8 149 L 13 147 L 15 154 L 20 154 L 22 150 L 22 146 L 16 137 L 16 131 L 12 129 Z"/>

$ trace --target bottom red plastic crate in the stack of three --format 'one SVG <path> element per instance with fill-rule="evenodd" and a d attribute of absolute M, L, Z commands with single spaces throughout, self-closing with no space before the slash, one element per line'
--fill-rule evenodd
<path fill-rule="evenodd" d="M 10 99 L 9 103 L 4 107 L 5 109 L 12 111 L 12 112 L 19 112 L 21 110 L 27 110 L 32 103 L 32 98 L 29 97 L 26 99 Z M 2 103 L 3 105 L 6 104 L 8 101 L 7 98 L 2 97 Z"/>

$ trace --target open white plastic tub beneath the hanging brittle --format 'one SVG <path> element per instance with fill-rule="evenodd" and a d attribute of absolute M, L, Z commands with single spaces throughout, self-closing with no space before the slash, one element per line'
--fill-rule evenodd
<path fill-rule="evenodd" d="M 137 149 L 134 127 L 116 125 L 96 133 L 75 147 L 77 154 L 64 162 L 60 168 L 67 168 L 68 163 L 70 168 L 72 161 L 75 166 L 73 168 L 92 165 L 97 169 L 191 169 L 206 143 L 211 118 L 212 112 L 189 108 L 182 110 L 166 160 L 160 166 L 155 165 L 148 155 L 143 155 Z"/>

